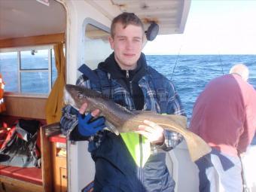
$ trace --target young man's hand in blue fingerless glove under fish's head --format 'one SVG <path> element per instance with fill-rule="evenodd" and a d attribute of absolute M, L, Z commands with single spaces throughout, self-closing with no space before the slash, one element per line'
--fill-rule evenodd
<path fill-rule="evenodd" d="M 86 109 L 87 103 L 85 102 L 78 113 L 78 132 L 82 136 L 93 136 L 105 127 L 105 117 L 98 117 L 99 109 L 85 115 Z"/>

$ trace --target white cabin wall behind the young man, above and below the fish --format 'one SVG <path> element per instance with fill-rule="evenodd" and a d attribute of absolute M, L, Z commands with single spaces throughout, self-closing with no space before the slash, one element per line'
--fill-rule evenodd
<path fill-rule="evenodd" d="M 103 2 L 108 3 L 108 1 Z M 112 18 L 109 18 L 109 15 L 106 17 L 85 1 L 65 1 L 64 5 L 67 9 L 66 83 L 75 84 L 80 75 L 77 69 L 83 62 L 84 42 L 81 40 L 84 39 L 85 34 L 84 20 L 90 17 L 110 27 Z M 111 11 L 113 17 L 120 14 L 116 7 L 110 7 L 108 4 L 108 8 L 113 9 Z M 68 143 L 68 175 L 69 191 L 81 191 L 86 184 L 93 181 L 94 163 L 87 151 L 87 142 Z"/>

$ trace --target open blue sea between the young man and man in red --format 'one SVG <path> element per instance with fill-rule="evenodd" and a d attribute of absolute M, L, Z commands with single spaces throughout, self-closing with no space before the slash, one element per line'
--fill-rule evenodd
<path fill-rule="evenodd" d="M 249 83 L 256 88 L 256 55 L 148 55 L 146 58 L 148 65 L 175 84 L 188 119 L 206 84 L 212 78 L 229 73 L 238 62 L 248 66 Z"/>

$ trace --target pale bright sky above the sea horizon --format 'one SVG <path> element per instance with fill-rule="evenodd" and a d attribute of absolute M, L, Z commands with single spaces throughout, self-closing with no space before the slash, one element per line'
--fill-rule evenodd
<path fill-rule="evenodd" d="M 158 35 L 146 54 L 256 54 L 256 0 L 192 0 L 184 33 Z"/>

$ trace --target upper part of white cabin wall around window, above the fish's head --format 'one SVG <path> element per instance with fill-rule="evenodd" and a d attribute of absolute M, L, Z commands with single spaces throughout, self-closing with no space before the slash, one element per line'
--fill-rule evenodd
<path fill-rule="evenodd" d="M 110 6 L 108 1 L 102 1 L 104 4 L 108 4 L 108 8 L 113 9 L 113 17 L 120 14 L 117 7 Z M 81 39 L 84 37 L 84 20 L 88 17 L 102 23 L 105 26 L 111 25 L 111 19 L 105 16 L 101 12 L 97 11 L 92 5 L 85 1 L 66 1 L 68 9 L 68 23 L 67 23 L 67 75 L 66 81 L 68 84 L 75 84 L 78 78 L 78 67 L 81 66 L 82 60 L 82 47 L 83 42 Z"/>

